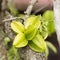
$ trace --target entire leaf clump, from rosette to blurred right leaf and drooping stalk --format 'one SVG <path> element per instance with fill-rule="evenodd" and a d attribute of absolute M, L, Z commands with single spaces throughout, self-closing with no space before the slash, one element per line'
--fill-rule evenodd
<path fill-rule="evenodd" d="M 50 42 L 45 41 L 49 35 L 55 32 L 53 11 L 48 10 L 43 16 L 31 15 L 24 21 L 24 25 L 21 22 L 12 21 L 11 28 L 17 33 L 13 41 L 14 47 L 22 48 L 28 45 L 36 52 L 45 52 L 46 56 L 49 54 L 48 47 L 53 52 L 57 52 Z"/>

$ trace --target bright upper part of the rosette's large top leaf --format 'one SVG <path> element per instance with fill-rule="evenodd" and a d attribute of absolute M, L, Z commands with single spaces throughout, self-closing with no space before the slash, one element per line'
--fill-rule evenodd
<path fill-rule="evenodd" d="M 28 27 L 30 27 L 31 25 L 33 25 L 36 29 L 38 29 L 40 27 L 40 24 L 41 24 L 40 16 L 32 15 L 24 22 L 24 24 L 25 24 L 26 29 Z"/>

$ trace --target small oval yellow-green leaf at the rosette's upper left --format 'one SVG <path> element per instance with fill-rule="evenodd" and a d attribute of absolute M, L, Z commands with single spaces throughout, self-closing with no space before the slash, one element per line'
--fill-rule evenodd
<path fill-rule="evenodd" d="M 21 32 L 24 32 L 24 30 L 25 30 L 24 25 L 17 21 L 13 21 L 11 23 L 11 28 L 16 33 L 21 33 Z"/>

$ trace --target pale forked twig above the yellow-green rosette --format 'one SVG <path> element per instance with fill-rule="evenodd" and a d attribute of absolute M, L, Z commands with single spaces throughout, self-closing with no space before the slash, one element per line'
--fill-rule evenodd
<path fill-rule="evenodd" d="M 35 4 L 36 2 L 37 2 L 37 0 L 31 0 L 31 1 L 30 1 L 29 6 L 27 7 L 26 11 L 24 12 L 24 13 L 25 13 L 24 19 L 21 18 L 21 17 L 11 17 L 11 18 L 9 18 L 9 19 L 4 19 L 4 20 L 2 20 L 2 22 L 11 21 L 11 20 L 16 20 L 16 19 L 26 20 L 26 19 L 29 17 L 29 15 L 31 14 L 32 8 L 33 8 L 33 6 L 34 6 L 34 4 Z"/>

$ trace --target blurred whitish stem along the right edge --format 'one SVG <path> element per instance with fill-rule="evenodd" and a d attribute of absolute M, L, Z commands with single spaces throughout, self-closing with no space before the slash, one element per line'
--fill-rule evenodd
<path fill-rule="evenodd" d="M 55 28 L 60 46 L 60 0 L 54 1 Z"/>

